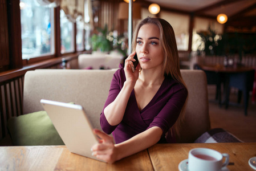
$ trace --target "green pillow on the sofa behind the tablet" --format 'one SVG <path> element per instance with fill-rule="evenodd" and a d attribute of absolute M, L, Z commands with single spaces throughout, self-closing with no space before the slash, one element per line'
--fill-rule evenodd
<path fill-rule="evenodd" d="M 64 145 L 46 111 L 11 117 L 7 128 L 14 145 Z"/>

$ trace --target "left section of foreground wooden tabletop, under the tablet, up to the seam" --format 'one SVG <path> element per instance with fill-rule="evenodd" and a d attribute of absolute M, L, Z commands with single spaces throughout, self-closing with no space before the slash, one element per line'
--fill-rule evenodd
<path fill-rule="evenodd" d="M 153 170 L 147 150 L 115 164 L 70 153 L 66 146 L 1 146 L 0 170 Z"/>

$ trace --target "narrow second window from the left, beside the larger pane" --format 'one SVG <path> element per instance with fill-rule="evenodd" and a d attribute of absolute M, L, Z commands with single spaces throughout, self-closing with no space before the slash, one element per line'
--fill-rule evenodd
<path fill-rule="evenodd" d="M 74 23 L 68 20 L 63 10 L 60 10 L 60 39 L 62 54 L 74 52 Z"/>

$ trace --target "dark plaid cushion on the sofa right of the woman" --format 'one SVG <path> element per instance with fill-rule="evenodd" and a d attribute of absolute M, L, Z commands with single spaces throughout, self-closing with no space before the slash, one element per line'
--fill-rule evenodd
<path fill-rule="evenodd" d="M 242 141 L 222 128 L 214 128 L 203 133 L 194 143 L 242 143 Z"/>

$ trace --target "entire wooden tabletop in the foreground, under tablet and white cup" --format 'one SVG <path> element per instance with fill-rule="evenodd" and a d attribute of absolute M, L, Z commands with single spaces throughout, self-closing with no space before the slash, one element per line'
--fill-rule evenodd
<path fill-rule="evenodd" d="M 256 156 L 256 143 L 156 144 L 114 164 L 70 153 L 66 146 L 1 146 L 0 170 L 178 170 L 198 147 L 228 153 L 229 170 L 253 170 L 248 160 Z"/>

